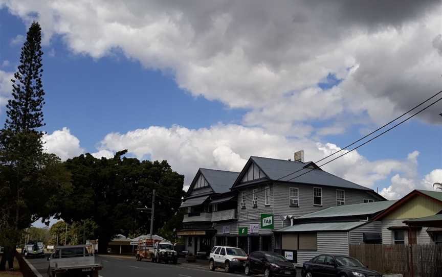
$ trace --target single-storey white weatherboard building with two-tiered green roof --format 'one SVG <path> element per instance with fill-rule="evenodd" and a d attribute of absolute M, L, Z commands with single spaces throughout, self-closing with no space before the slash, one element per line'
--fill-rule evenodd
<path fill-rule="evenodd" d="M 275 231 L 275 251 L 302 266 L 320 254 L 348 255 L 350 244 L 381 243 L 381 222 L 371 219 L 395 202 L 340 205 L 293 218 Z"/>

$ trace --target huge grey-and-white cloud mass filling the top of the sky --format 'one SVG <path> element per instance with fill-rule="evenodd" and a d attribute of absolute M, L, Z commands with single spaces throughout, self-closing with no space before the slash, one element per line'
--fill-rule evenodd
<path fill-rule="evenodd" d="M 441 83 L 437 0 L 2 2 L 28 23 L 37 17 L 46 44 L 59 34 L 74 53 L 118 49 L 194 96 L 251 108 L 245 124 L 272 131 L 345 112 L 383 123 Z M 329 73 L 343 82 L 318 89 Z"/>

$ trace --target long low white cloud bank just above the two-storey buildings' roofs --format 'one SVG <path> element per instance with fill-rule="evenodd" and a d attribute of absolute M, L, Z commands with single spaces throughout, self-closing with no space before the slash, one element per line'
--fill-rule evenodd
<path fill-rule="evenodd" d="M 293 158 L 295 151 L 304 149 L 306 160 L 316 161 L 340 150 L 334 144 L 317 143 L 305 138 L 288 139 L 263 128 L 222 124 L 201 129 L 151 126 L 124 134 L 109 133 L 102 140 L 100 149 L 112 152 L 128 149 L 138 158 L 149 156 L 152 160 L 166 159 L 174 170 L 186 176 L 186 185 L 197 168 L 240 171 L 251 155 L 287 159 Z M 417 155 L 415 151 L 404 160 L 370 161 L 353 151 L 324 169 L 375 189 L 376 183 L 390 174 L 414 175 Z"/>

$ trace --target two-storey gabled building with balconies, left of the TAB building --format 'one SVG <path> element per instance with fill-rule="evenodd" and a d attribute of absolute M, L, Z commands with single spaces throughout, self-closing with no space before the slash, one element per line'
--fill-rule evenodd
<path fill-rule="evenodd" d="M 185 238 L 185 250 L 207 256 L 215 244 L 215 234 L 224 234 L 222 244 L 232 242 L 230 230 L 222 222 L 236 220 L 236 194 L 230 191 L 238 172 L 200 168 L 195 174 L 180 208 L 185 209 L 183 228 L 177 235 Z"/>

